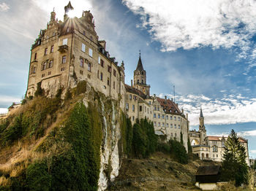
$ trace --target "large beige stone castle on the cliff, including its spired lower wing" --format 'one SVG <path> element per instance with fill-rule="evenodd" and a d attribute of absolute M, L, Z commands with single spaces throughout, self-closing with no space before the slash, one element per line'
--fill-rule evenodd
<path fill-rule="evenodd" d="M 68 16 L 72 9 L 69 1 L 64 21 L 58 21 L 53 10 L 47 28 L 40 31 L 32 45 L 26 96 L 33 96 L 37 85 L 53 96 L 60 87 L 66 91 L 85 80 L 95 90 L 118 99 L 132 124 L 146 117 L 154 122 L 155 133 L 178 141 L 182 137 L 187 149 L 189 120 L 183 109 L 178 109 L 178 104 L 166 96 L 163 99 L 150 95 L 140 57 L 134 83 L 126 85 L 124 62 L 118 65 L 110 57 L 106 42 L 97 36 L 91 12 L 84 11 L 80 18 L 72 18 Z"/>

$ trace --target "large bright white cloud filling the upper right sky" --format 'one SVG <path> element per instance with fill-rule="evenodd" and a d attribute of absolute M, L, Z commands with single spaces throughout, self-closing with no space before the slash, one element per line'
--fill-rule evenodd
<path fill-rule="evenodd" d="M 141 27 L 162 44 L 178 48 L 240 47 L 237 60 L 256 58 L 250 41 L 256 32 L 256 1 L 240 0 L 122 0 L 140 15 Z M 157 5 L 157 6 L 156 6 Z M 250 65 L 251 69 L 255 65 Z M 227 74 L 230 76 L 230 74 Z"/>

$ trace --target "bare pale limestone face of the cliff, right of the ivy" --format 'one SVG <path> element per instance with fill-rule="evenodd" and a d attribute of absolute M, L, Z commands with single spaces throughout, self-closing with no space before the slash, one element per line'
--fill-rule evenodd
<path fill-rule="evenodd" d="M 102 114 L 102 146 L 100 150 L 100 172 L 98 190 L 105 190 L 108 182 L 118 176 L 121 167 L 122 145 L 121 145 L 121 109 L 118 101 L 106 98 L 105 95 L 98 94 L 99 98 L 95 101 L 95 96 L 91 95 L 94 91 L 83 99 L 83 104 L 88 106 L 88 101 L 94 98 L 94 103 L 98 105 L 99 112 Z"/>

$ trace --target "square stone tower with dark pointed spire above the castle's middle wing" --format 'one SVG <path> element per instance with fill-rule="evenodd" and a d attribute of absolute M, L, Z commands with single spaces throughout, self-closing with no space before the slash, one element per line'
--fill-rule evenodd
<path fill-rule="evenodd" d="M 133 79 L 133 87 L 142 91 L 146 95 L 150 94 L 150 85 L 146 84 L 146 71 L 143 69 L 141 58 L 139 58 L 137 68 L 134 71 Z"/>

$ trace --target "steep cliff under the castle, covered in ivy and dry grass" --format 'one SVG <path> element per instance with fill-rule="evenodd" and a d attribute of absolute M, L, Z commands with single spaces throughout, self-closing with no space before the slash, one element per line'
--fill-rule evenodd
<path fill-rule="evenodd" d="M 86 82 L 26 101 L 0 125 L 1 189 L 105 190 L 124 155 L 121 116 Z"/>

